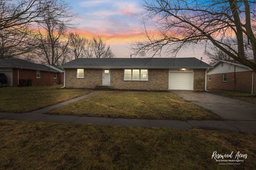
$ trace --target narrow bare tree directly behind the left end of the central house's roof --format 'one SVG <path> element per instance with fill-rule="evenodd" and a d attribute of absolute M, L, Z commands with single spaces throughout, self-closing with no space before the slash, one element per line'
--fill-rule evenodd
<path fill-rule="evenodd" d="M 86 45 L 89 44 L 88 39 L 79 36 L 77 32 L 75 32 L 75 33 L 70 32 L 69 33 L 69 42 L 70 42 L 69 48 L 70 48 L 71 52 L 73 52 L 75 59 L 85 56 L 84 52 L 86 49 Z"/>

